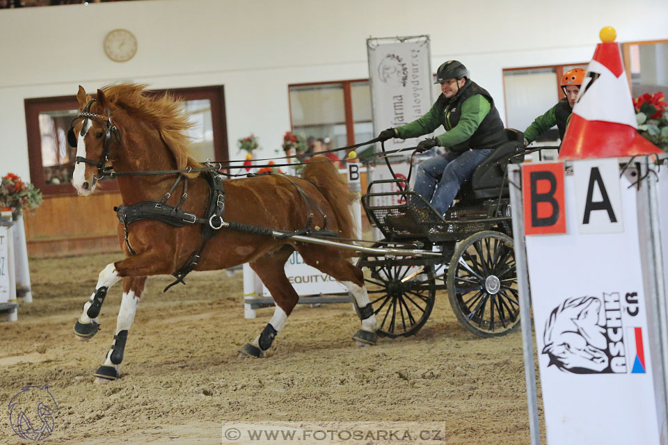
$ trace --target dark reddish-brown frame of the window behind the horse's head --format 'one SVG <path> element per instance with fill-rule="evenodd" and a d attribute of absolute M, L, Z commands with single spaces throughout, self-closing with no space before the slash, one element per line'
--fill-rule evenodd
<path fill-rule="evenodd" d="M 228 131 L 225 117 L 225 90 L 223 85 L 164 88 L 150 90 L 150 95 L 169 93 L 182 100 L 208 99 L 211 104 L 211 120 L 214 131 L 214 161 L 228 161 Z M 47 184 L 42 165 L 42 137 L 40 134 L 39 115 L 45 111 L 79 109 L 79 101 L 75 95 L 38 97 L 24 99 L 26 113 L 26 136 L 28 138 L 28 158 L 30 179 L 35 187 L 47 195 L 76 195 L 72 184 Z M 197 159 L 196 161 L 205 161 Z M 105 179 L 104 190 L 100 193 L 116 193 L 119 191 L 116 180 Z"/>

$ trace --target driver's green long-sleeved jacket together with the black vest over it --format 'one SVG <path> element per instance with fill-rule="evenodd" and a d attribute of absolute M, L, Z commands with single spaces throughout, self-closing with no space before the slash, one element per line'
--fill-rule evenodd
<path fill-rule="evenodd" d="M 415 138 L 443 125 L 446 133 L 437 137 L 438 145 L 454 152 L 467 149 L 495 148 L 507 138 L 489 93 L 469 81 L 455 97 L 440 95 L 422 118 L 397 127 L 399 138 Z M 486 97 L 487 96 L 487 97 Z M 457 108 L 461 108 L 458 110 Z"/>

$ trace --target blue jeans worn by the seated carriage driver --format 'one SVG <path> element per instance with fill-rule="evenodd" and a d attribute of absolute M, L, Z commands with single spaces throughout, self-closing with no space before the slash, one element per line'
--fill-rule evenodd
<path fill-rule="evenodd" d="M 473 175 L 475 168 L 493 151 L 493 148 L 468 150 L 463 153 L 448 150 L 427 159 L 417 165 L 413 191 L 431 201 L 434 209 L 443 215 L 454 201 L 461 184 Z"/>

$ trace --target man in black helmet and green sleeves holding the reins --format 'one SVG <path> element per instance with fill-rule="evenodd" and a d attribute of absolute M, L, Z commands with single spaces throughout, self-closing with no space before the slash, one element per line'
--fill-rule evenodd
<path fill-rule="evenodd" d="M 417 152 L 436 146 L 446 150 L 418 165 L 413 188 L 443 215 L 475 168 L 508 138 L 491 95 L 469 79 L 461 62 L 448 60 L 440 65 L 435 83 L 440 83 L 443 94 L 422 118 L 383 130 L 378 137 L 383 141 L 415 138 L 443 125 L 445 133 L 417 145 Z"/>

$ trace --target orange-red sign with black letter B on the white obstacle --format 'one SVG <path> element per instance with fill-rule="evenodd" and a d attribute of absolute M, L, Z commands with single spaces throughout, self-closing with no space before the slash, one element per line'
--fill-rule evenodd
<path fill-rule="evenodd" d="M 525 234 L 566 233 L 564 163 L 522 165 L 522 193 Z"/>

